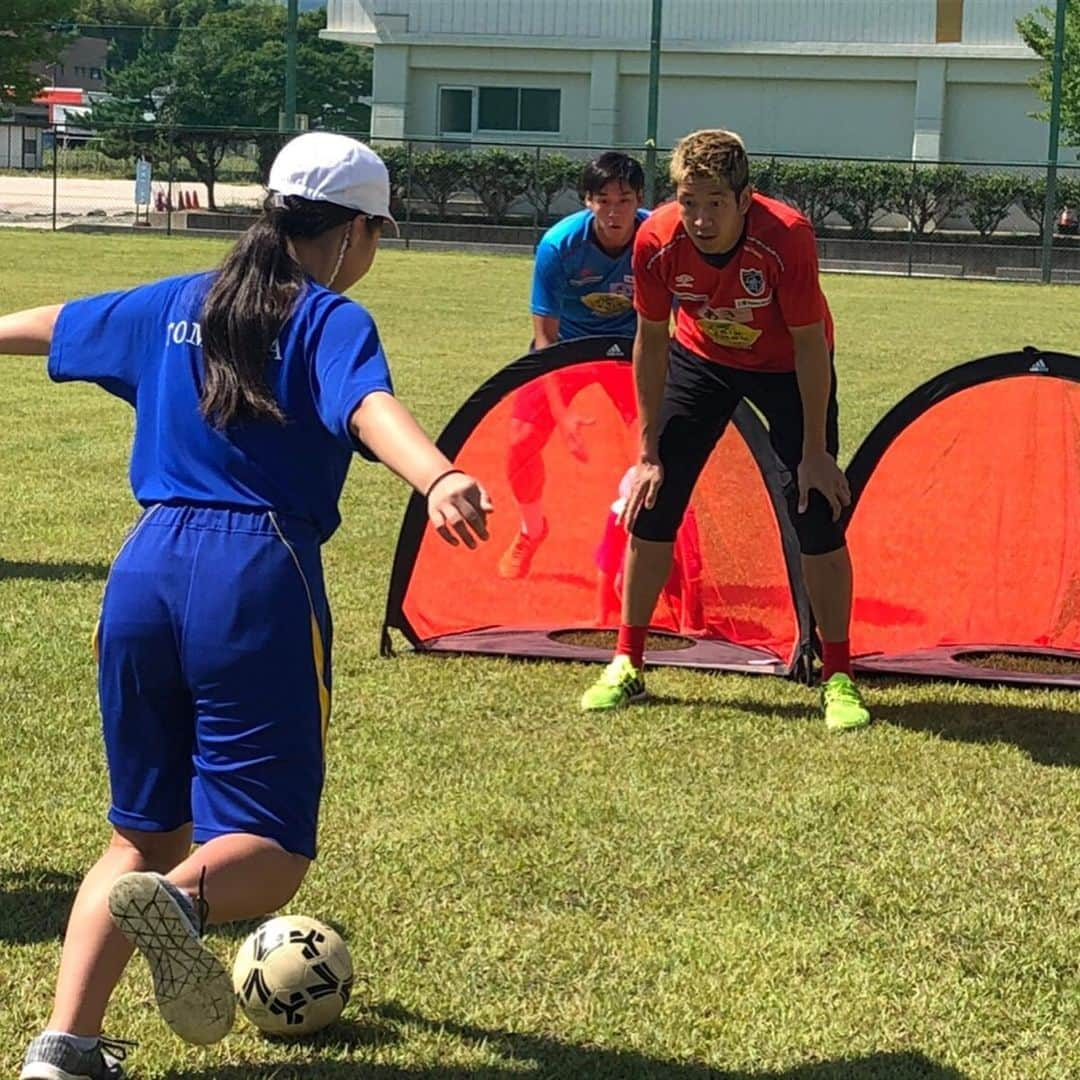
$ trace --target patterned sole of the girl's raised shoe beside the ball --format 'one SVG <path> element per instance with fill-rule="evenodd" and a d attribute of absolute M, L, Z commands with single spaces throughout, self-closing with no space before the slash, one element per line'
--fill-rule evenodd
<path fill-rule="evenodd" d="M 109 914 L 146 957 L 165 1023 L 195 1045 L 224 1039 L 235 1016 L 232 980 L 167 890 L 148 874 L 125 874 L 109 892 Z"/>

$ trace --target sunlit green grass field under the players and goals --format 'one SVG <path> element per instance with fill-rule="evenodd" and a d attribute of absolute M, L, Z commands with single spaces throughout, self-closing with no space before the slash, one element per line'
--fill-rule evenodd
<path fill-rule="evenodd" d="M 2 234 L 0 311 L 213 265 L 221 242 Z M 529 262 L 384 252 L 356 295 L 433 432 L 528 340 Z M 933 373 L 1080 352 L 1068 287 L 829 276 L 858 445 Z M 0 361 L 0 1071 L 49 1014 L 108 829 L 90 651 L 136 507 L 131 414 Z M 988 418 L 993 422 L 993 418 Z M 133 964 L 108 1017 L 138 1078 L 982 1080 L 1080 1076 L 1080 699 L 870 683 L 836 738 L 809 691 L 658 670 L 583 717 L 593 669 L 377 654 L 406 492 L 357 467 L 326 550 L 335 713 L 320 861 L 292 909 L 359 972 L 300 1044 L 189 1048 Z M 509 508 L 503 512 L 509 512 Z M 943 538 L 947 542 L 947 538 Z M 222 953 L 248 928 L 214 936 Z"/>

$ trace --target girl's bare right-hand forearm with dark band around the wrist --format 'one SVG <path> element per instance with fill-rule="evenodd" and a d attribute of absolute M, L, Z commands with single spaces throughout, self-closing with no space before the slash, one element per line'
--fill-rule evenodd
<path fill-rule="evenodd" d="M 377 390 L 352 414 L 353 434 L 389 469 L 428 499 L 428 516 L 450 544 L 459 539 L 475 548 L 487 539 L 491 500 L 472 476 L 453 462 L 428 437 L 401 402 Z"/>

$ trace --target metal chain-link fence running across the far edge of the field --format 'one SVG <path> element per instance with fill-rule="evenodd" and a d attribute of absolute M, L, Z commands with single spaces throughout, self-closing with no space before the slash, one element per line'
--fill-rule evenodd
<path fill-rule="evenodd" d="M 40 168 L 0 175 L 0 221 L 166 233 L 245 228 L 287 137 L 154 127 L 78 140 L 63 131 L 43 136 Z M 380 140 L 378 149 L 407 246 L 529 249 L 552 221 L 581 206 L 581 166 L 609 148 L 424 139 Z M 624 149 L 643 159 L 646 152 Z M 659 176 L 666 164 L 661 152 Z M 825 269 L 1039 280 L 1049 230 L 1052 280 L 1080 282 L 1080 164 L 1058 166 L 1049 217 L 1045 171 L 1030 164 L 771 154 L 753 161 L 753 179 L 811 219 Z M 670 188 L 659 194 L 666 198 Z"/>

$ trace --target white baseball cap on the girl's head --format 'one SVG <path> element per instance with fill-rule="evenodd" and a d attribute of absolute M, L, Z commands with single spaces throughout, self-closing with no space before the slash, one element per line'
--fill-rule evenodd
<path fill-rule="evenodd" d="M 382 217 L 397 231 L 387 166 L 369 146 L 348 135 L 306 132 L 289 139 L 270 166 L 267 188 Z"/>

